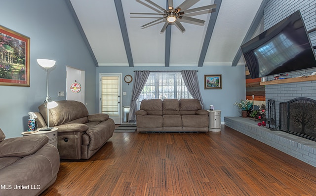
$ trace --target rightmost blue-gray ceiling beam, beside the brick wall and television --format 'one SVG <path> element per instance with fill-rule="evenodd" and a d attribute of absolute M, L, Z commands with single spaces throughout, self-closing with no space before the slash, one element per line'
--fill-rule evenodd
<path fill-rule="evenodd" d="M 244 44 L 245 42 L 249 41 L 252 38 L 252 36 L 254 35 L 254 33 L 256 32 L 256 30 L 261 22 L 261 19 L 264 15 L 264 9 L 265 9 L 267 2 L 268 2 L 268 0 L 263 0 L 261 2 L 261 5 L 260 5 L 255 17 L 254 17 L 249 29 L 248 29 L 248 32 L 246 33 L 246 36 L 242 40 L 241 45 Z M 238 61 L 241 58 L 241 55 L 242 55 L 242 51 L 241 51 L 241 48 L 239 47 L 237 54 L 235 55 L 235 58 L 233 60 L 232 67 L 237 66 Z"/>

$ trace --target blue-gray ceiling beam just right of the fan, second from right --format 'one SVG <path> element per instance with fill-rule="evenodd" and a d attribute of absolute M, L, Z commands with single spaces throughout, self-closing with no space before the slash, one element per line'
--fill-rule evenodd
<path fill-rule="evenodd" d="M 212 34 L 213 34 L 214 27 L 215 27 L 216 19 L 218 16 L 219 8 L 221 7 L 221 3 L 222 3 L 222 0 L 214 0 L 214 4 L 216 4 L 216 10 L 215 10 L 215 12 L 211 13 L 211 17 L 209 18 L 209 21 L 208 21 L 203 46 L 202 46 L 201 53 L 200 53 L 200 56 L 198 59 L 198 64 L 197 64 L 198 67 L 203 66 L 205 56 L 207 53 L 207 49 L 208 49 L 208 45 L 209 45 L 209 42 L 211 41 L 211 38 L 212 38 Z"/>

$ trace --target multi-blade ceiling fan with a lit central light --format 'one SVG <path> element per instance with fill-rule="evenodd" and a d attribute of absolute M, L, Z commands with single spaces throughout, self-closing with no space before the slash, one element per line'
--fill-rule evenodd
<path fill-rule="evenodd" d="M 147 7 L 150 7 L 151 9 L 155 10 L 158 13 L 130 13 L 130 14 L 161 15 L 161 17 L 159 17 L 157 20 L 154 20 L 154 21 L 149 22 L 145 25 L 142 25 L 142 27 L 145 28 L 145 27 L 148 27 L 149 25 L 155 25 L 154 23 L 158 24 L 161 21 L 165 21 L 160 33 L 163 33 L 166 30 L 167 26 L 170 24 L 176 25 L 182 33 L 185 32 L 186 30 L 182 26 L 180 20 L 187 20 L 187 21 L 191 21 L 191 22 L 194 22 L 197 24 L 204 24 L 205 20 L 200 20 L 197 18 L 185 16 L 185 14 L 191 13 L 194 15 L 199 15 L 199 14 L 203 14 L 203 13 L 200 13 L 200 11 L 204 11 L 204 10 L 209 11 L 213 8 L 216 8 L 216 4 L 212 4 L 212 5 L 206 5 L 206 6 L 202 6 L 202 7 L 189 9 L 194 4 L 196 4 L 199 0 L 185 0 L 178 7 L 174 8 L 173 0 L 167 0 L 168 9 L 164 9 L 163 7 L 159 6 L 158 4 L 156 4 L 155 2 L 153 2 L 151 0 L 145 0 L 146 2 L 150 3 L 151 5 L 157 7 L 159 9 L 159 10 L 157 10 L 156 8 L 154 8 L 154 7 L 148 5 L 140 0 L 136 0 L 136 1 L 140 2 L 141 4 L 144 4 Z M 151 18 L 151 17 L 147 17 L 147 18 Z"/>

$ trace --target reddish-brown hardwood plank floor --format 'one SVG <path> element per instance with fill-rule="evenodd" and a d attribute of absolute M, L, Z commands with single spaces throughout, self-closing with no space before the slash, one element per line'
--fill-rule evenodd
<path fill-rule="evenodd" d="M 315 196 L 316 168 L 222 126 L 114 133 L 89 160 L 61 160 L 41 196 Z"/>

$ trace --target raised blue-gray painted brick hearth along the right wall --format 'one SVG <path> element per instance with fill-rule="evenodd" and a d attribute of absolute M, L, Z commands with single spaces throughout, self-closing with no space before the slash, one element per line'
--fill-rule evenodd
<path fill-rule="evenodd" d="M 225 117 L 225 125 L 316 167 L 316 142 L 283 131 L 271 131 L 259 121 Z"/>

